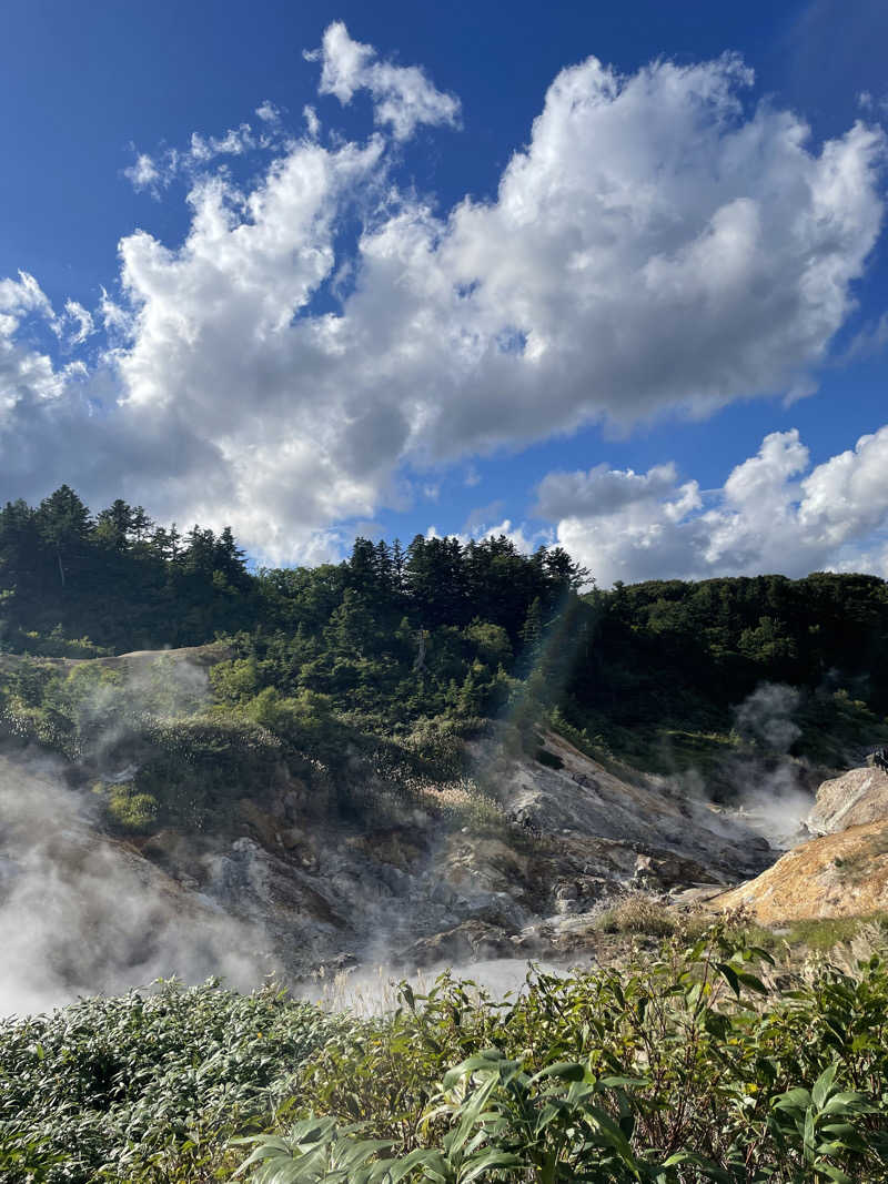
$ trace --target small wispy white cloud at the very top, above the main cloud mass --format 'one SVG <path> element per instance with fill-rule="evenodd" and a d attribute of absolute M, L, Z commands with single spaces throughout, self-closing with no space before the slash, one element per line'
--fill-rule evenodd
<path fill-rule="evenodd" d="M 355 91 L 368 90 L 377 123 L 390 124 L 397 140 L 407 140 L 420 123 L 458 121 L 457 98 L 437 90 L 419 66 L 379 62 L 373 46 L 352 40 L 341 20 L 328 26 L 321 49 L 305 57 L 322 63 L 321 95 L 335 95 L 345 105 Z"/>

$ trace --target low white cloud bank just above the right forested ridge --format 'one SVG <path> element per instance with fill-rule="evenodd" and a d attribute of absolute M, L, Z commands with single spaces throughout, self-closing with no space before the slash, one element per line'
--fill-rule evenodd
<path fill-rule="evenodd" d="M 601 585 L 824 568 L 888 577 L 888 426 L 809 468 L 799 433 L 774 432 L 707 496 L 674 465 L 599 465 L 549 474 L 538 509 L 564 515 L 559 543 Z"/>

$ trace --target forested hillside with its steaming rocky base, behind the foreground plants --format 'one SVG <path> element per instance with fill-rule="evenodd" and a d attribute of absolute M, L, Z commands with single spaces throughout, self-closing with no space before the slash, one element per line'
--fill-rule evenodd
<path fill-rule="evenodd" d="M 590 957 L 626 889 L 760 873 L 888 735 L 869 577 L 599 592 L 503 538 L 250 573 L 230 532 L 63 487 L 0 511 L 0 593 L 2 785 L 31 804 L 2 916 L 45 934 L 39 1005 L 173 970 Z M 82 895 L 111 937 L 79 941 Z"/>

